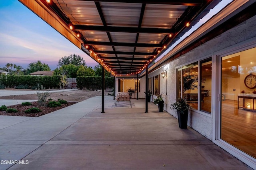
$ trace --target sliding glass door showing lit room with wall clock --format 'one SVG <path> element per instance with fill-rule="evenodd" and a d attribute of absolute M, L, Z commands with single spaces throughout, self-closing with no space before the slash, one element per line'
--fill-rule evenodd
<path fill-rule="evenodd" d="M 256 48 L 220 58 L 220 138 L 256 158 Z"/>

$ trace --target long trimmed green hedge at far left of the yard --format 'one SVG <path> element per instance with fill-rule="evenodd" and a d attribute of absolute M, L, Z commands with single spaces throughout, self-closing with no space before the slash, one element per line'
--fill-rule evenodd
<path fill-rule="evenodd" d="M 0 82 L 6 87 L 14 87 L 22 84 L 28 86 L 44 85 L 45 88 L 57 88 L 60 76 L 30 76 L 30 75 L 1 75 Z"/>

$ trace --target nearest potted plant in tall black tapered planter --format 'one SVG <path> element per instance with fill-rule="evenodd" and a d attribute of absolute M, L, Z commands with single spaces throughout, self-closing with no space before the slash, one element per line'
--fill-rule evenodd
<path fill-rule="evenodd" d="M 188 125 L 188 110 L 191 108 L 185 98 L 178 98 L 174 104 L 171 104 L 171 109 L 176 109 L 178 114 L 179 127 L 187 129 Z"/>

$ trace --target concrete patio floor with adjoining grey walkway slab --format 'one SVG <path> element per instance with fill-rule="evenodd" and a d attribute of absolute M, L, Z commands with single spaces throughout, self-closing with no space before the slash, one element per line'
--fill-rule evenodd
<path fill-rule="evenodd" d="M 172 115 L 144 100 L 114 108 L 101 96 L 41 117 L 0 115 L 0 169 L 251 169 Z M 129 104 L 127 104 L 129 106 Z"/>

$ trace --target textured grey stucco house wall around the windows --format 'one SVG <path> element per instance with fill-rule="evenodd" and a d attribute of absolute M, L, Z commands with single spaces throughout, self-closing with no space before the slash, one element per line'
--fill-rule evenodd
<path fill-rule="evenodd" d="M 256 16 L 250 18 L 244 23 L 222 33 L 218 37 L 204 43 L 203 45 L 197 47 L 196 49 L 182 55 L 178 59 L 168 63 L 162 68 L 151 72 L 148 77 L 155 76 L 160 74 L 162 70 L 165 68 L 168 72 L 167 76 L 167 106 L 164 108 L 168 113 L 177 117 L 177 113 L 174 110 L 170 109 L 170 104 L 175 102 L 176 99 L 176 67 L 184 64 L 192 63 L 198 59 L 203 59 L 204 57 L 214 57 L 214 53 L 228 49 L 237 43 L 242 43 L 248 39 L 256 37 Z M 215 74 L 212 72 L 212 74 Z M 161 78 L 161 92 L 165 92 L 165 78 Z M 215 81 L 213 81 L 213 84 Z M 212 94 L 212 96 L 216 96 L 216 94 Z M 214 107 L 214 106 L 212 106 Z M 188 116 L 188 125 L 206 136 L 208 139 L 212 139 L 212 117 L 216 113 L 207 114 L 200 111 L 190 111 Z"/>

